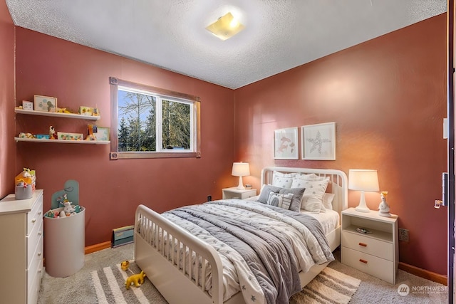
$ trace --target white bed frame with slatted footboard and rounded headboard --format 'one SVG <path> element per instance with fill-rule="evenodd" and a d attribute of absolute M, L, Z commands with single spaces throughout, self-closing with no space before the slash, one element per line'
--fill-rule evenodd
<path fill-rule="evenodd" d="M 333 210 L 338 211 L 340 215 L 343 209 L 347 209 L 348 179 L 345 172 L 334 169 L 265 167 L 261 170 L 261 185 L 271 184 L 274 171 L 314 173 L 329 177 L 331 186 L 328 188 L 336 194 Z M 341 243 L 340 229 L 339 224 L 326 235 L 331 251 Z M 135 262 L 169 303 L 244 303 L 240 292 L 226 302 L 223 301 L 222 261 L 212 246 L 142 204 L 138 206 L 135 214 L 134 238 Z M 175 254 L 175 246 L 190 254 L 187 254 L 183 261 L 179 261 L 179 255 Z M 198 271 L 193 271 L 192 263 L 197 263 L 193 266 L 196 269 L 202 268 L 201 273 L 204 273 L 206 264 L 210 265 L 212 296 L 204 290 L 204 275 L 200 276 Z M 304 287 L 327 265 L 328 263 L 315 265 L 308 272 L 299 273 L 301 285 Z"/>

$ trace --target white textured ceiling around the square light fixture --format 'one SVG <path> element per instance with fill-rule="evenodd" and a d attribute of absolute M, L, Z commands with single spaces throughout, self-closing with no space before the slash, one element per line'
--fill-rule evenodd
<path fill-rule="evenodd" d="M 6 0 L 16 26 L 227 88 L 442 14 L 446 0 Z M 232 11 L 221 41 L 205 27 Z"/>

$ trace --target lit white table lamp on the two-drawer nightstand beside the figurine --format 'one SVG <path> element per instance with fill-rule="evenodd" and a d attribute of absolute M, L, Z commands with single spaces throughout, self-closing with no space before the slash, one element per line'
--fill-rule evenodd
<path fill-rule="evenodd" d="M 348 189 L 361 191 L 359 204 L 356 211 L 369 212 L 371 211 L 366 205 L 364 192 L 375 192 L 380 188 L 378 187 L 377 170 L 371 169 L 350 169 L 348 171 Z"/>

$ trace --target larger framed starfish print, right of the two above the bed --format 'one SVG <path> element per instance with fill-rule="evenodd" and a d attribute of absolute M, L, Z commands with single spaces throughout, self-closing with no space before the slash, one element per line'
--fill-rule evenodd
<path fill-rule="evenodd" d="M 336 122 L 301 127 L 301 158 L 336 159 Z"/>

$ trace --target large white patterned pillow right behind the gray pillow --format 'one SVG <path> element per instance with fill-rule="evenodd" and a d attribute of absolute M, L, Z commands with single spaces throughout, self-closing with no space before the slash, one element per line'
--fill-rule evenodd
<path fill-rule="evenodd" d="M 323 206 L 323 195 L 328 187 L 329 178 L 322 181 L 308 181 L 304 179 L 293 179 L 291 188 L 306 188 L 302 196 L 301 209 L 320 213 L 326 211 Z"/>

